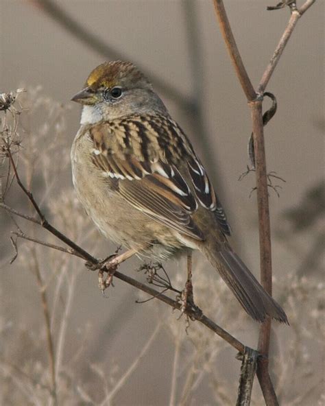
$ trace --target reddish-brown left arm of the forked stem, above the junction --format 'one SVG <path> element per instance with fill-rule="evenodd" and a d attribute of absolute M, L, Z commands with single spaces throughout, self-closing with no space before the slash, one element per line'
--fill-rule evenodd
<path fill-rule="evenodd" d="M 213 4 L 215 5 L 215 12 L 217 14 L 220 31 L 222 36 L 224 37 L 224 41 L 230 54 L 234 70 L 237 73 L 237 77 L 239 79 L 239 82 L 241 82 L 241 87 L 243 88 L 248 101 L 252 101 L 256 98 L 256 93 L 254 91 L 252 82 L 250 81 L 250 77 L 248 76 L 248 73 L 244 67 L 243 60 L 241 59 L 236 41 L 234 40 L 228 16 L 224 8 L 224 1 L 213 0 Z"/>

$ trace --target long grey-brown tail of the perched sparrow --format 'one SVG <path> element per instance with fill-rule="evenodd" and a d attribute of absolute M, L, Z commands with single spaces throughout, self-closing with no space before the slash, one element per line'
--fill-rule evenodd
<path fill-rule="evenodd" d="M 221 250 L 215 250 L 204 244 L 201 250 L 253 319 L 263 322 L 265 316 L 269 315 L 279 322 L 289 324 L 285 311 L 267 294 L 230 247 L 224 246 Z"/>

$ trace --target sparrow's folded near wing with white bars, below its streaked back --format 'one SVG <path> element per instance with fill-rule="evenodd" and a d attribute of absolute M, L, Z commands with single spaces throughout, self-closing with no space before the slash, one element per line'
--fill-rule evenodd
<path fill-rule="evenodd" d="M 125 160 L 114 155 L 98 157 L 106 174 L 119 180 L 117 193 L 132 206 L 185 235 L 203 239 L 191 219 L 197 202 L 175 167 L 161 162 L 143 165 L 130 156 Z"/>

